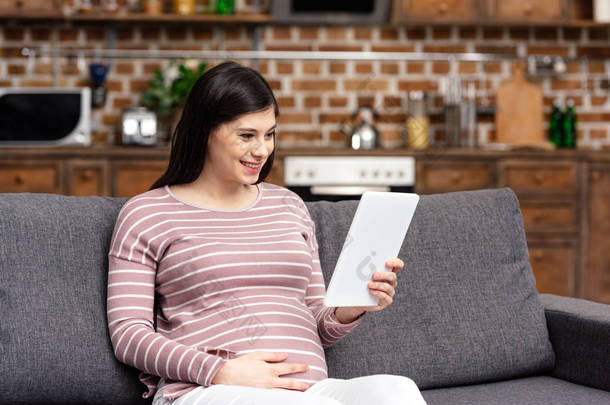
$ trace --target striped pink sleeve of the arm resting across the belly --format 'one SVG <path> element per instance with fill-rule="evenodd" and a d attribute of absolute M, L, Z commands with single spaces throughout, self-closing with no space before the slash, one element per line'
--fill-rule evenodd
<path fill-rule="evenodd" d="M 143 232 L 150 222 L 138 209 L 119 213 L 108 253 L 107 321 L 116 358 L 164 379 L 211 384 L 225 359 L 157 333 L 153 324 L 156 261 Z M 141 211 L 142 212 L 142 211 Z M 136 259 L 137 258 L 137 259 Z M 155 387 L 146 383 L 154 394 Z"/>

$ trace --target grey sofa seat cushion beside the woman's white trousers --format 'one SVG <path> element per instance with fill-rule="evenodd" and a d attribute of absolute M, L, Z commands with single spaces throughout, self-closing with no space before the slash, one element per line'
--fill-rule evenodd
<path fill-rule="evenodd" d="M 608 405 L 610 393 L 553 377 L 422 391 L 428 405 Z"/>

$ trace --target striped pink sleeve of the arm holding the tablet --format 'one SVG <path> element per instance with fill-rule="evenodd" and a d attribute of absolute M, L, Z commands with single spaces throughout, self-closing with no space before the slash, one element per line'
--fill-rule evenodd
<path fill-rule="evenodd" d="M 305 293 L 305 303 L 312 311 L 313 316 L 317 321 L 318 334 L 320 335 L 322 347 L 327 348 L 358 326 L 366 312 L 350 323 L 341 323 L 335 316 L 337 307 L 324 306 L 323 300 L 324 295 L 326 294 L 326 286 L 324 284 L 324 277 L 322 276 L 322 267 L 320 265 L 320 256 L 318 253 L 316 225 L 311 219 L 305 203 L 302 203 L 302 209 L 307 214 L 305 222 L 308 224 L 309 228 L 308 243 L 312 251 L 312 272 Z"/>

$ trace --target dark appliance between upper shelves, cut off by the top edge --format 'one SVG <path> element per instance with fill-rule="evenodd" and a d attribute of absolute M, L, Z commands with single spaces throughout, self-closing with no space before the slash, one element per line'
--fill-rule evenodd
<path fill-rule="evenodd" d="M 272 2 L 271 14 L 280 24 L 383 24 L 391 6 L 391 0 L 282 0 Z"/>

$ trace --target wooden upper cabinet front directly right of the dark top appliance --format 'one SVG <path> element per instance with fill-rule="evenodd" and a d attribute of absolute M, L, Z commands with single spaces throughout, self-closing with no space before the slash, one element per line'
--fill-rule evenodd
<path fill-rule="evenodd" d="M 398 0 L 394 22 L 477 19 L 483 4 L 484 0 Z"/>

